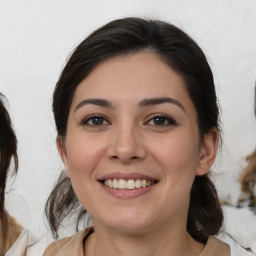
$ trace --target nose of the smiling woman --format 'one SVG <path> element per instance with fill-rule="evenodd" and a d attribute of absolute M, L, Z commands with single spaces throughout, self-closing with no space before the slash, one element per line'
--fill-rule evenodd
<path fill-rule="evenodd" d="M 139 161 L 146 157 L 143 137 L 132 125 L 122 125 L 113 131 L 108 157 L 122 163 Z"/>

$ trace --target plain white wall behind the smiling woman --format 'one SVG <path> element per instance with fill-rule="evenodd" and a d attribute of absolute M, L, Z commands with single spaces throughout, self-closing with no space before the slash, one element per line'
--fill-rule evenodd
<path fill-rule="evenodd" d="M 220 176 L 218 190 L 223 197 L 239 193 L 238 172 L 256 145 L 255 0 L 1 0 L 0 5 L 0 92 L 9 101 L 20 159 L 11 209 L 25 226 L 34 232 L 43 226 L 44 203 L 62 168 L 51 97 L 66 58 L 94 29 L 125 16 L 174 23 L 208 56 L 223 122 L 216 172 L 228 173 Z"/>

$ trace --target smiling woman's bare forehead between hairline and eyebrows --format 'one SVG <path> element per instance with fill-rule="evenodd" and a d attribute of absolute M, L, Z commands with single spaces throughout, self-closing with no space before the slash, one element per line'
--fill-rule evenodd
<path fill-rule="evenodd" d="M 73 101 L 82 97 L 188 97 L 183 78 L 161 57 L 140 52 L 107 59 L 78 85 Z"/>

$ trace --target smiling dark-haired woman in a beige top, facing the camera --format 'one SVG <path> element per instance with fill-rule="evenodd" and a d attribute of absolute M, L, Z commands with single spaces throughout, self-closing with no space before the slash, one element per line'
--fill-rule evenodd
<path fill-rule="evenodd" d="M 177 27 L 125 18 L 86 38 L 53 95 L 66 168 L 46 214 L 55 238 L 80 207 L 93 220 L 44 255 L 230 255 L 208 178 L 220 137 L 211 69 Z M 86 210 L 85 210 L 86 209 Z"/>

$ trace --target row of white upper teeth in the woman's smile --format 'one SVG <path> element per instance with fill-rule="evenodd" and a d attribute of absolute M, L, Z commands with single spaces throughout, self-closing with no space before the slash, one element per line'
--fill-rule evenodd
<path fill-rule="evenodd" d="M 154 181 L 140 180 L 124 180 L 124 179 L 107 179 L 104 180 L 104 185 L 116 189 L 136 189 L 145 188 L 154 184 Z"/>

